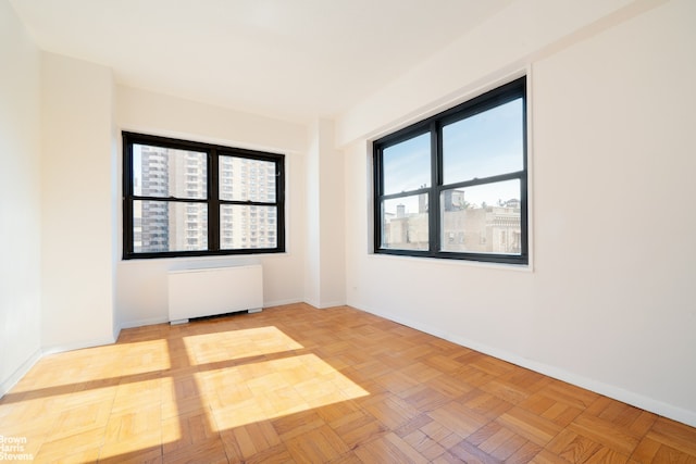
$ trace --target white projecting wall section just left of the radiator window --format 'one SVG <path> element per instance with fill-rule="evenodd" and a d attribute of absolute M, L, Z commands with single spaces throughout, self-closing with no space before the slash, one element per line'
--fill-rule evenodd
<path fill-rule="evenodd" d="M 111 70 L 42 53 L 41 324 L 49 351 L 114 340 L 112 100 Z"/>

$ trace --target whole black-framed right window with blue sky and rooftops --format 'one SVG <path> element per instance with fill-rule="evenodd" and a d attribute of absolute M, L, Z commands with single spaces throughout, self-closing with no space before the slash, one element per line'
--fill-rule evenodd
<path fill-rule="evenodd" d="M 527 264 L 525 77 L 373 148 L 375 253 Z"/>

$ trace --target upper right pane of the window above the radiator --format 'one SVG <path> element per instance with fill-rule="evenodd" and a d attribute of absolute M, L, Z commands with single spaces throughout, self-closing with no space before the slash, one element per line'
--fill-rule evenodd
<path fill-rule="evenodd" d="M 275 202 L 275 163 L 220 156 L 220 199 Z"/>

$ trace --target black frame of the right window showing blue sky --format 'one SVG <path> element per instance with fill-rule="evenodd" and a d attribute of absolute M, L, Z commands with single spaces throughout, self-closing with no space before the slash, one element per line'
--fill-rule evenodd
<path fill-rule="evenodd" d="M 474 178 L 465 181 L 444 184 L 443 173 L 443 127 L 457 121 L 464 120 L 484 111 L 494 109 L 512 100 L 522 98 L 522 170 L 513 173 L 493 175 L 484 178 Z M 384 168 L 383 153 L 385 149 L 409 140 L 419 135 L 431 135 L 431 181 L 430 186 L 398 193 L 384 193 Z M 373 252 L 375 254 L 391 254 L 419 258 L 453 259 L 465 261 L 477 261 L 487 263 L 505 263 L 527 265 L 530 263 L 529 250 L 529 175 L 527 175 L 527 92 L 526 76 L 517 78 L 508 84 L 489 90 L 467 102 L 458 104 L 449 110 L 443 111 L 434 116 L 427 117 L 400 130 L 373 141 L 373 221 L 374 221 L 374 242 Z M 453 188 L 464 188 L 493 184 L 497 181 L 519 179 L 520 180 L 520 254 L 504 253 L 481 253 L 443 251 L 442 243 L 442 220 L 440 220 L 440 193 Z M 383 217 L 382 204 L 385 200 L 406 198 L 417 195 L 427 195 L 427 224 L 428 224 L 428 249 L 397 249 L 383 247 Z"/>

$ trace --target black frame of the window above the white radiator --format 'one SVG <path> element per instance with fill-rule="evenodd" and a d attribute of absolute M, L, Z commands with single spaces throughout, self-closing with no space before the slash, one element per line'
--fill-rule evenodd
<path fill-rule="evenodd" d="M 186 256 L 217 256 L 239 254 L 265 254 L 285 252 L 285 155 L 258 150 L 182 140 L 156 135 L 122 131 L 123 140 L 123 260 L 186 258 Z M 207 192 L 204 199 L 186 199 L 177 197 L 151 197 L 134 193 L 133 146 L 146 145 L 177 150 L 198 151 L 207 154 Z M 220 158 L 233 156 L 248 160 L 273 162 L 275 164 L 275 202 L 222 200 L 220 198 Z M 134 201 L 163 201 L 179 203 L 204 203 L 208 205 L 208 249 L 183 251 L 134 251 Z M 222 249 L 220 230 L 221 205 L 238 204 L 249 206 L 275 206 L 276 246 L 273 248 L 240 248 Z"/>

